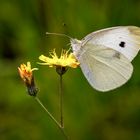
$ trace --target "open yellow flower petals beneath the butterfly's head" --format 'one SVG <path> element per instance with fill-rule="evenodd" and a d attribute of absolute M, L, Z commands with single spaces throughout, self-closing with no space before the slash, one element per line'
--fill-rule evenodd
<path fill-rule="evenodd" d="M 79 66 L 79 62 L 76 60 L 73 53 L 68 54 L 69 50 L 62 50 L 60 58 L 56 55 L 55 50 L 50 52 L 50 57 L 46 57 L 44 55 L 39 56 L 39 59 L 44 63 L 39 63 L 42 65 L 48 65 L 49 67 L 71 67 L 77 68 Z"/>

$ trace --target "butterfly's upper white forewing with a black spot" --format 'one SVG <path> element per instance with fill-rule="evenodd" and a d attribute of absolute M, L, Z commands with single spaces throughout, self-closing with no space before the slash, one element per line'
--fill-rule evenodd
<path fill-rule="evenodd" d="M 114 49 L 132 61 L 140 50 L 140 28 L 119 26 L 99 30 L 87 35 L 82 40 L 84 48 L 86 43 Z"/>

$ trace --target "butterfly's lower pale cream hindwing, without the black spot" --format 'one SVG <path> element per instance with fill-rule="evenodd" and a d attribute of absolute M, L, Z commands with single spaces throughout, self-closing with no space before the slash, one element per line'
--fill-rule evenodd
<path fill-rule="evenodd" d="M 132 64 L 123 54 L 100 45 L 86 45 L 78 61 L 91 86 L 103 92 L 123 85 L 133 72 Z"/>

